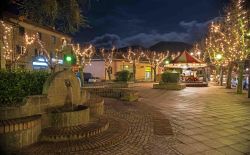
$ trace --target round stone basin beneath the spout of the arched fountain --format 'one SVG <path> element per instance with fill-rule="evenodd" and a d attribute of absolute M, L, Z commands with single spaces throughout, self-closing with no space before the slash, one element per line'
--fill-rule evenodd
<path fill-rule="evenodd" d="M 78 105 L 73 110 L 57 108 L 49 114 L 51 127 L 69 127 L 86 124 L 89 122 L 89 108 Z"/>

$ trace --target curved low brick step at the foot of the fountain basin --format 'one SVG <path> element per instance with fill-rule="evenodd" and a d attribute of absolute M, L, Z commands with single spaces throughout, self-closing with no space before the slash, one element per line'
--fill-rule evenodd
<path fill-rule="evenodd" d="M 109 127 L 109 121 L 105 117 L 88 124 L 82 124 L 72 127 L 55 128 L 50 127 L 42 131 L 41 141 L 67 141 L 92 137 L 104 132 Z"/>

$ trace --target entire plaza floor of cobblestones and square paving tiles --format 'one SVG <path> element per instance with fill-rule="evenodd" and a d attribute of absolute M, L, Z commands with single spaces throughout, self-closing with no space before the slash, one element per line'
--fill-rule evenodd
<path fill-rule="evenodd" d="M 135 103 L 105 99 L 107 131 L 82 141 L 38 143 L 26 154 L 250 154 L 250 100 L 210 86 L 181 91 L 136 88 Z"/>

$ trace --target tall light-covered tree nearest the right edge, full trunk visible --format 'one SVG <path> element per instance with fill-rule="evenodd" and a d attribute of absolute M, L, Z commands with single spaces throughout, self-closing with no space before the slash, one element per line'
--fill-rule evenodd
<path fill-rule="evenodd" d="M 238 64 L 237 93 L 242 93 L 244 62 L 249 55 L 246 45 L 246 34 L 249 26 L 245 0 L 232 0 L 226 9 L 225 29 L 228 39 L 228 59 Z"/>

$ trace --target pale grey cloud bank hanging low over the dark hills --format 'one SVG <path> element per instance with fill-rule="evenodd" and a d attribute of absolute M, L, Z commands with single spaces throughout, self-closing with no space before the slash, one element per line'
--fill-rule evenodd
<path fill-rule="evenodd" d="M 160 41 L 180 41 L 193 43 L 204 37 L 209 23 L 218 18 L 206 21 L 181 21 L 179 26 L 184 29 L 183 32 L 168 32 L 159 33 L 156 30 L 152 30 L 150 33 L 137 33 L 128 37 L 121 38 L 116 34 L 104 34 L 94 38 L 91 43 L 97 47 L 111 48 L 113 45 L 116 47 L 141 45 L 144 47 L 150 47 L 153 44 Z"/>

